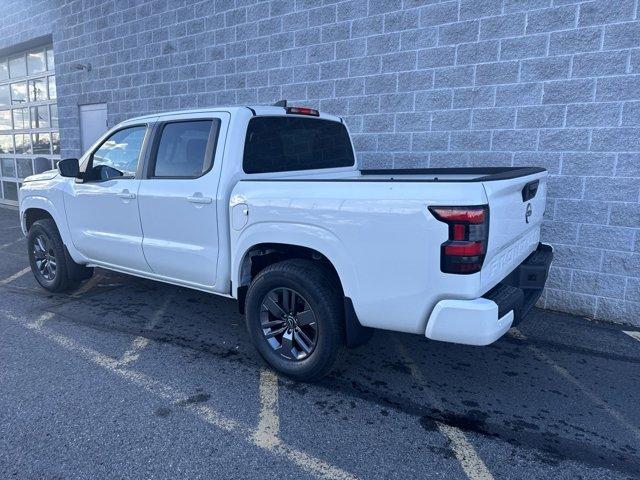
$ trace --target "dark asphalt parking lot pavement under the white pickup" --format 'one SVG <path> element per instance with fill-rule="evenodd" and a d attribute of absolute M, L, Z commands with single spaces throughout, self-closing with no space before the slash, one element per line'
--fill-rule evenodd
<path fill-rule="evenodd" d="M 27 267 L 2 207 L 0 478 L 640 478 L 633 327 L 534 310 L 481 348 L 378 331 L 302 384 L 232 300 L 99 269 L 53 295 Z"/>

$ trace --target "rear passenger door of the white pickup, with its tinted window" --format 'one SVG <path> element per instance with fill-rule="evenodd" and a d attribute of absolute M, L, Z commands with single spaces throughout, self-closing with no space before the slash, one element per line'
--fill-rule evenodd
<path fill-rule="evenodd" d="M 144 255 L 154 273 L 215 285 L 217 191 L 229 114 L 161 117 L 140 184 Z"/>

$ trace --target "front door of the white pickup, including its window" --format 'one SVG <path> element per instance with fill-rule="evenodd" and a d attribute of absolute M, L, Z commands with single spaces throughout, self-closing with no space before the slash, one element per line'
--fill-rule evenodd
<path fill-rule="evenodd" d="M 86 157 L 81 183 L 64 194 L 74 246 L 87 258 L 107 265 L 149 271 L 142 253 L 138 213 L 138 165 L 149 127 L 116 130 Z"/>

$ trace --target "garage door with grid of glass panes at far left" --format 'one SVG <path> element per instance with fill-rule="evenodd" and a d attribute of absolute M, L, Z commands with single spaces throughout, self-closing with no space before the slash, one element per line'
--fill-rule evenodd
<path fill-rule="evenodd" d="M 51 45 L 0 57 L 0 203 L 60 158 L 54 73 Z"/>

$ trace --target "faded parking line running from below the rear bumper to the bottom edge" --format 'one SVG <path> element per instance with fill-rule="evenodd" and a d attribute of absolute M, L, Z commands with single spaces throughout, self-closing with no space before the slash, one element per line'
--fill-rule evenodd
<path fill-rule="evenodd" d="M 425 385 L 425 379 L 422 375 L 422 372 L 418 369 L 418 366 L 415 362 L 409 357 L 409 353 L 407 352 L 404 345 L 402 345 L 397 339 L 396 345 L 398 347 L 398 351 L 400 355 L 404 359 L 405 363 L 409 366 L 409 370 L 411 371 L 411 376 L 421 385 Z M 429 403 L 433 405 L 435 408 L 442 409 L 442 404 L 438 401 L 429 390 L 425 387 L 424 394 L 428 397 Z M 447 425 L 442 422 L 435 422 L 436 427 L 442 433 L 442 435 L 449 440 L 449 444 L 453 454 L 458 459 L 460 466 L 464 473 L 471 480 L 493 480 L 493 475 L 487 468 L 486 464 L 478 455 L 473 445 L 469 442 L 466 435 L 459 428 L 453 427 L 451 425 Z"/>

